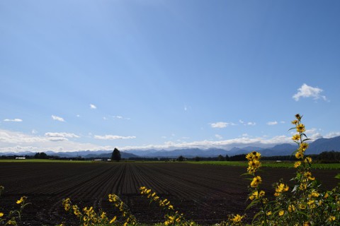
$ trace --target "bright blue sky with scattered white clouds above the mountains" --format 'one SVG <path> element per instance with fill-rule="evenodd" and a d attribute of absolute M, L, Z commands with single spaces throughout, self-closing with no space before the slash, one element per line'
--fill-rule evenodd
<path fill-rule="evenodd" d="M 340 136 L 339 1 L 0 1 L 0 152 Z"/>

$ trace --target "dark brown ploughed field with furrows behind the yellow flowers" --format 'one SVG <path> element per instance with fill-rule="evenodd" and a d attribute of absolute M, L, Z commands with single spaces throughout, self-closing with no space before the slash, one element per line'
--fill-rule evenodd
<path fill-rule="evenodd" d="M 113 216 L 117 212 L 108 202 L 108 194 L 113 193 L 128 204 L 139 222 L 162 221 L 164 213 L 139 195 L 140 186 L 168 198 L 187 219 L 211 225 L 226 220 L 229 213 L 243 213 L 249 183 L 241 176 L 245 167 L 177 162 L 1 162 L 0 172 L 0 184 L 5 186 L 1 210 L 16 206 L 23 195 L 32 203 L 23 210 L 25 225 L 55 225 L 66 218 L 71 219 L 68 225 L 75 225 L 77 220 L 62 208 L 63 198 L 71 198 L 81 208 L 94 206 Z M 264 167 L 263 189 L 273 194 L 271 184 L 281 177 L 289 184 L 294 172 Z M 339 169 L 312 172 L 324 189 L 338 183 L 334 176 Z"/>

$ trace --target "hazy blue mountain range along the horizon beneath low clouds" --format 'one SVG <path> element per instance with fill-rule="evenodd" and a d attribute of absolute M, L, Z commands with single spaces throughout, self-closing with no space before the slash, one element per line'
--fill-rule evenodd
<path fill-rule="evenodd" d="M 121 155 L 123 158 L 129 157 L 170 157 L 176 158 L 182 155 L 183 157 L 216 157 L 218 155 L 241 155 L 245 153 L 249 153 L 253 150 L 258 151 L 263 156 L 277 156 L 277 155 L 291 155 L 294 150 L 297 149 L 297 144 L 293 143 L 283 143 L 275 145 L 271 148 L 260 148 L 256 146 L 248 146 L 245 148 L 231 148 L 229 150 L 221 149 L 221 148 L 209 148 L 209 149 L 200 149 L 200 148 L 185 148 L 185 149 L 176 149 L 176 150 L 126 150 L 121 151 Z M 316 141 L 310 142 L 309 148 L 306 151 L 306 154 L 319 154 L 324 151 L 340 151 L 340 136 L 336 136 L 334 138 L 319 138 Z M 112 150 L 81 150 L 77 152 L 60 152 L 55 153 L 52 151 L 45 151 L 47 155 L 55 155 L 59 157 L 85 157 L 85 158 L 110 158 Z M 0 153 L 0 155 L 35 155 L 32 152 L 23 152 L 23 153 Z"/>

